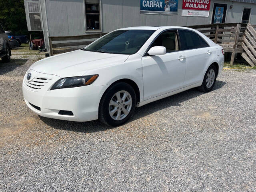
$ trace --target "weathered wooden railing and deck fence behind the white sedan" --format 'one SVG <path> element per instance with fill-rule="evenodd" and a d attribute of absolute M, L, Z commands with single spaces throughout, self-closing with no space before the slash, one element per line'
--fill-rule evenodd
<path fill-rule="evenodd" d="M 250 64 L 256 64 L 256 57 L 252 56 L 252 54 L 256 51 L 253 47 L 249 46 L 252 44 L 256 47 L 255 40 L 256 39 L 256 31 L 254 27 L 250 24 L 245 23 L 221 23 L 221 24 L 206 24 L 206 25 L 194 25 L 194 26 L 186 26 L 189 28 L 194 28 L 208 38 L 210 38 L 213 42 L 219 44 L 223 47 L 225 52 L 230 52 L 231 60 L 230 64 L 233 65 L 234 57 L 236 53 L 242 53 L 244 59 Z M 95 39 L 100 38 L 106 33 L 98 33 L 98 34 L 90 34 L 90 35 L 81 35 L 81 36 L 60 36 L 60 37 L 49 37 L 49 54 L 52 56 L 53 54 L 68 52 L 72 50 L 80 49 L 74 46 L 86 46 L 93 42 Z M 248 35 L 249 34 L 249 35 Z M 246 39 L 248 38 L 248 42 Z M 72 41 L 76 40 L 76 42 L 62 42 L 58 43 L 58 41 Z M 79 41 L 80 40 L 80 41 Z M 252 41 L 253 40 L 253 41 Z M 255 44 L 254 44 L 255 43 Z M 73 46 L 73 47 L 72 47 Z M 248 47 L 248 48 L 247 48 Z M 244 52 L 245 51 L 245 52 Z M 250 62 L 249 62 L 250 60 Z"/>

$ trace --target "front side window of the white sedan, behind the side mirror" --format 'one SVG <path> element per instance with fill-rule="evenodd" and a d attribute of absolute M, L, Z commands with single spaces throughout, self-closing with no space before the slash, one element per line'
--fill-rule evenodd
<path fill-rule="evenodd" d="M 166 53 L 179 50 L 178 36 L 175 31 L 166 31 L 160 34 L 152 43 L 150 48 L 154 46 L 163 46 L 166 48 Z"/>

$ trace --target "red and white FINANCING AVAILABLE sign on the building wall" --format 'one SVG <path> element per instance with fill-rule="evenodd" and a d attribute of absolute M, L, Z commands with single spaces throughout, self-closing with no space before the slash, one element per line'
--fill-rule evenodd
<path fill-rule="evenodd" d="M 210 0 L 183 0 L 182 16 L 208 17 Z"/>

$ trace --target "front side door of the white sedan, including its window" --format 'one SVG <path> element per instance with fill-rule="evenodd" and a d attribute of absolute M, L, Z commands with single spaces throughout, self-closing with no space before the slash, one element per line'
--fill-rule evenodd
<path fill-rule="evenodd" d="M 177 30 L 162 32 L 154 46 L 166 47 L 166 54 L 142 57 L 144 100 L 184 87 L 186 51 L 180 51 Z"/>

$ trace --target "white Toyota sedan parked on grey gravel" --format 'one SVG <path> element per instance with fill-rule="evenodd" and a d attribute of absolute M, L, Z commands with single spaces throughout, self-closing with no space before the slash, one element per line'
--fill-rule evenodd
<path fill-rule="evenodd" d="M 118 126 L 135 107 L 194 87 L 212 90 L 223 64 L 222 47 L 197 30 L 123 28 L 32 64 L 22 90 L 40 116 Z"/>

